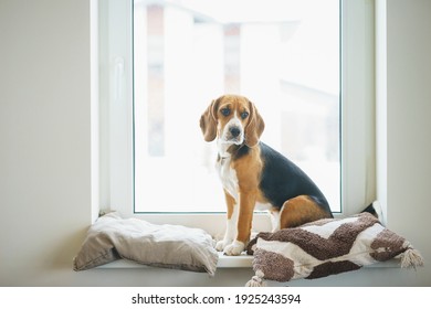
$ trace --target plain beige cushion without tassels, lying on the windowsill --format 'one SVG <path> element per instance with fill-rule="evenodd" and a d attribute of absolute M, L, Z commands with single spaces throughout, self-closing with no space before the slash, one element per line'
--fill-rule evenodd
<path fill-rule="evenodd" d="M 73 268 L 90 269 L 119 258 L 149 266 L 207 271 L 213 276 L 219 255 L 212 237 L 203 230 L 156 225 L 108 213 L 87 231 Z"/>

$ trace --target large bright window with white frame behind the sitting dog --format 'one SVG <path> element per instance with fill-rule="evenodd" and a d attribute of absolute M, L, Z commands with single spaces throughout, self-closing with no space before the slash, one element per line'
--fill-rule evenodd
<path fill-rule="evenodd" d="M 117 2 L 99 1 L 103 205 L 193 213 L 178 223 L 224 212 L 216 149 L 198 126 L 223 93 L 255 102 L 262 140 L 307 171 L 335 212 L 374 200 L 371 3 L 229 1 L 220 12 L 228 1 Z"/>

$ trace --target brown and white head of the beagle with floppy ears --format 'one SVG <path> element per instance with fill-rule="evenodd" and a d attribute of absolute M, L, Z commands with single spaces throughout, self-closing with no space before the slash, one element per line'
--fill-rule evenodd
<path fill-rule="evenodd" d="M 224 95 L 212 100 L 200 118 L 206 141 L 217 137 L 222 143 L 253 147 L 259 142 L 264 127 L 254 104 L 238 95 Z"/>

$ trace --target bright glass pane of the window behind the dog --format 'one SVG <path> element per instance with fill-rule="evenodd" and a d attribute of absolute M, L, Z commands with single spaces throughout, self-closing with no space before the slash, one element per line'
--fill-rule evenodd
<path fill-rule="evenodd" d="M 135 0 L 134 9 L 136 212 L 225 211 L 216 142 L 199 128 L 225 93 L 257 106 L 261 139 L 339 211 L 338 0 Z"/>

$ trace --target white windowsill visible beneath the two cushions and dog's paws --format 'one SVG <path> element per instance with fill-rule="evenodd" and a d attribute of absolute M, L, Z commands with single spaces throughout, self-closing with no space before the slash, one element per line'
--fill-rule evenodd
<path fill-rule="evenodd" d="M 219 263 L 218 268 L 252 268 L 253 266 L 253 256 L 246 255 L 243 253 L 240 256 L 225 256 L 222 253 L 219 253 Z M 148 266 L 138 264 L 127 259 L 118 259 L 109 264 L 98 266 L 97 268 L 146 268 Z M 380 262 L 365 266 L 365 268 L 399 268 L 400 260 L 398 258 L 392 258 L 387 262 Z"/>

